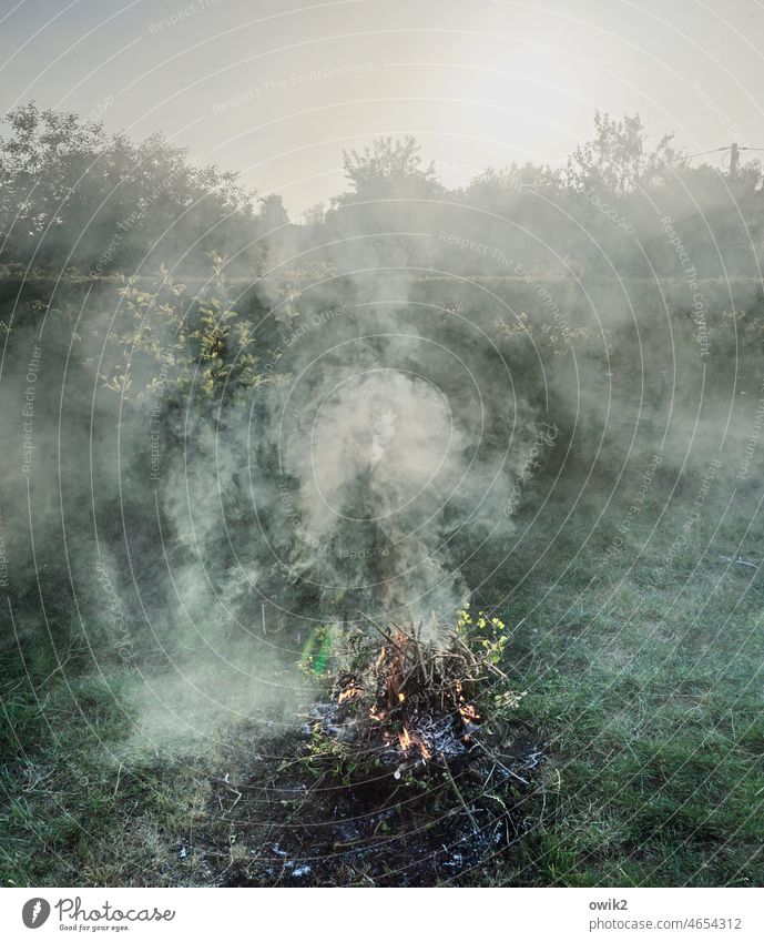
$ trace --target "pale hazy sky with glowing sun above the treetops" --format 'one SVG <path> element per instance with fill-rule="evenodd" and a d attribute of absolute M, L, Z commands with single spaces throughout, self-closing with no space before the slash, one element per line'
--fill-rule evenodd
<path fill-rule="evenodd" d="M 448 185 L 563 162 L 597 108 L 690 153 L 764 148 L 764 6 L 0 0 L 0 110 L 31 99 L 163 131 L 297 216 L 379 134 L 416 135 Z"/>

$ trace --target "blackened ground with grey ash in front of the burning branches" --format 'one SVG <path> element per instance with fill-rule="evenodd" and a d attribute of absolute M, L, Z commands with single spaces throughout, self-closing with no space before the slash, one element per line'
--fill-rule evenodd
<path fill-rule="evenodd" d="M 513 853 L 542 787 L 541 746 L 520 728 L 501 739 L 357 780 L 339 760 L 312 773 L 310 733 L 284 737 L 276 754 L 214 780 L 194 850 L 225 887 L 469 884 L 473 869 Z"/>

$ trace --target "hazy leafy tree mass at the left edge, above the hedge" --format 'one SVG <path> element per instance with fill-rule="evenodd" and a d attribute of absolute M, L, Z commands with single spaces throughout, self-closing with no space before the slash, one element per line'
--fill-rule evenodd
<path fill-rule="evenodd" d="M 133 142 L 101 122 L 40 110 L 6 115 L 0 136 L 0 246 L 11 262 L 89 267 L 196 265 L 246 245 L 253 194 L 237 175 L 195 166 L 161 134 Z M 156 246 L 156 247 L 153 247 Z"/>

